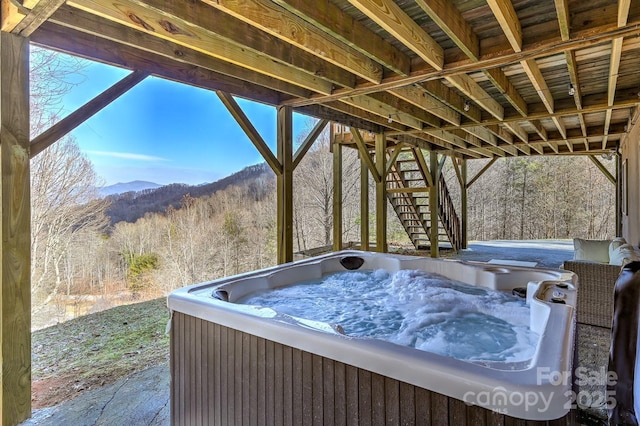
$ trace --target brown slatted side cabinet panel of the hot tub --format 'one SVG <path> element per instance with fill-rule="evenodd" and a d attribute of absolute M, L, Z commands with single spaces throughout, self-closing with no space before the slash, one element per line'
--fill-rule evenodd
<path fill-rule="evenodd" d="M 514 419 L 174 312 L 174 425 L 570 425 Z"/>

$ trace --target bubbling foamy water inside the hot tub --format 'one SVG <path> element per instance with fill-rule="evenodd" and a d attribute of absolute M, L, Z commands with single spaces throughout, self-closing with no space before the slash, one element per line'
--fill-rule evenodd
<path fill-rule="evenodd" d="M 419 270 L 334 273 L 236 303 L 466 361 L 526 361 L 540 337 L 524 299 Z"/>

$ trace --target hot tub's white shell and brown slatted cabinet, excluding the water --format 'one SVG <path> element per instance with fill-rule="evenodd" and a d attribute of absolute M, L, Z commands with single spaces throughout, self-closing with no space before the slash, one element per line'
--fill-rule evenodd
<path fill-rule="evenodd" d="M 234 303 L 354 268 L 344 261 L 353 258 L 364 261 L 359 270 L 427 271 L 509 293 L 526 288 L 530 328 L 540 336 L 533 356 L 459 360 Z M 566 271 L 359 251 L 185 287 L 168 298 L 172 421 L 477 424 L 568 418 L 575 301 L 575 275 Z"/>

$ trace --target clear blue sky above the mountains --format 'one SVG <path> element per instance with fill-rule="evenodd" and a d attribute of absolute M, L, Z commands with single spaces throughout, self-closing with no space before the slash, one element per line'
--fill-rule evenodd
<path fill-rule="evenodd" d="M 66 115 L 129 71 L 87 62 L 63 100 Z M 236 99 L 272 150 L 274 107 Z M 309 117 L 294 114 L 294 142 Z M 214 92 L 147 77 L 72 132 L 106 185 L 212 182 L 263 161 Z"/>

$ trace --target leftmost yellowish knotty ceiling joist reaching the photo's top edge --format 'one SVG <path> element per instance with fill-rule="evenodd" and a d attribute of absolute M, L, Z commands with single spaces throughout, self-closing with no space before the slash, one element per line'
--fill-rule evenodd
<path fill-rule="evenodd" d="M 148 3 L 151 3 L 149 5 Z M 224 26 L 226 22 L 207 6 L 183 2 L 149 0 L 147 3 L 122 0 L 111 3 L 100 0 L 74 0 L 67 4 L 81 10 L 98 14 L 102 18 L 118 22 L 149 34 L 198 50 L 218 59 L 229 61 L 249 70 L 269 75 L 307 89 L 330 94 L 332 83 L 286 63 L 274 61 L 260 51 L 237 44 L 234 40 L 218 36 L 209 31 L 211 22 Z M 230 20 L 227 20 L 230 21 Z M 192 23 L 203 26 L 194 26 Z M 156 25 L 154 27 L 151 23 Z M 170 30 L 165 30 L 165 27 Z"/>

